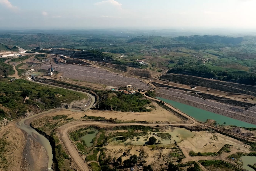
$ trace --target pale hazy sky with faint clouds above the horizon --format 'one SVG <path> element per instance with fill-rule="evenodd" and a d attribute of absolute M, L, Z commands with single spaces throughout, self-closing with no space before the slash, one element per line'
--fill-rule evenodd
<path fill-rule="evenodd" d="M 256 0 L 0 0 L 0 29 L 256 29 Z"/>

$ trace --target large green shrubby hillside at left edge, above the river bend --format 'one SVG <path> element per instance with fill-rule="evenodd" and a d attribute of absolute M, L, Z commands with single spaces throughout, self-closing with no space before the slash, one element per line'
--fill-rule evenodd
<path fill-rule="evenodd" d="M 7 84 L 8 83 L 8 84 Z M 0 104 L 9 109 L 12 118 L 22 117 L 27 111 L 42 112 L 58 108 L 61 101 L 71 103 L 85 94 L 62 88 L 38 85 L 23 79 L 9 82 L 9 78 L 0 78 Z M 24 98 L 29 97 L 24 103 Z"/>

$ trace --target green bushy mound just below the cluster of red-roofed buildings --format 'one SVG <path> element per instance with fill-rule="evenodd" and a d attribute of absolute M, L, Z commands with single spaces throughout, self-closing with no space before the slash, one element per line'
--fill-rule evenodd
<path fill-rule="evenodd" d="M 116 110 L 122 112 L 150 112 L 151 109 L 146 109 L 145 105 L 151 103 L 146 98 L 143 98 L 141 93 L 125 95 L 120 92 L 115 92 L 116 95 L 107 95 L 107 98 L 99 103 L 100 110 Z"/>

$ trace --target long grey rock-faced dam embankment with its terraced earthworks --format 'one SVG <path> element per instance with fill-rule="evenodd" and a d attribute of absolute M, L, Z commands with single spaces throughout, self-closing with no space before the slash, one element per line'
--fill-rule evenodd
<path fill-rule="evenodd" d="M 35 51 L 38 53 L 38 50 Z M 97 58 L 97 54 L 85 51 L 53 49 L 43 50 L 43 52 L 49 54 L 41 54 L 45 55 L 43 58 L 30 58 L 23 63 L 23 66 L 19 67 L 23 70 L 35 70 L 29 73 L 24 72 L 24 76 L 31 77 L 33 75 L 35 79 L 55 79 L 109 90 L 130 85 L 132 89 L 154 91 L 157 97 L 256 124 L 256 102 L 254 101 L 256 90 L 254 86 L 224 84 L 224 82 L 216 80 L 210 81 L 212 82 L 210 83 L 207 79 L 192 76 L 182 76 L 185 79 L 179 80 L 181 77 L 175 74 L 154 73 L 150 69 L 111 64 L 111 61 L 114 60 L 111 57 L 104 55 Z M 96 62 L 96 60 L 98 61 Z M 125 68 L 118 70 L 116 69 L 118 67 Z M 195 83 L 189 83 L 189 80 L 193 80 Z M 186 82 L 190 85 L 186 85 Z M 191 84 L 195 86 L 191 86 Z"/>

